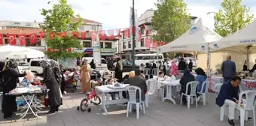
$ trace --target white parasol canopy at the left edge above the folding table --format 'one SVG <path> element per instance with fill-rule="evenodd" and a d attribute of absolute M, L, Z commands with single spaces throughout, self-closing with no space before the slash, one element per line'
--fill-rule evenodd
<path fill-rule="evenodd" d="M 0 46 L 0 59 L 6 58 L 41 58 L 44 52 L 23 46 Z"/>

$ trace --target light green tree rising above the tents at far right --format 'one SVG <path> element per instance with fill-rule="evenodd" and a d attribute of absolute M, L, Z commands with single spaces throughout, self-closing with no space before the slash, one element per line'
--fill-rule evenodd
<path fill-rule="evenodd" d="M 242 0 L 224 0 L 222 9 L 215 14 L 215 31 L 222 37 L 233 34 L 254 20 L 253 14 L 248 14 L 250 8 L 241 5 Z"/>

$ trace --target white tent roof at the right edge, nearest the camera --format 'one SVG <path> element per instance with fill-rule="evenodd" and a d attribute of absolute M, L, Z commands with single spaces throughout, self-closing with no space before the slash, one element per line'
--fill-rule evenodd
<path fill-rule="evenodd" d="M 246 53 L 246 46 L 256 43 L 256 20 L 240 31 L 209 44 L 210 51 L 219 49 L 239 50 Z"/>

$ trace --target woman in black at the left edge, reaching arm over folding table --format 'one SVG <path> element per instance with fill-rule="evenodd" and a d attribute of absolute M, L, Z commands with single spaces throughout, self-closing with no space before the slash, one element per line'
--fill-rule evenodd
<path fill-rule="evenodd" d="M 6 62 L 5 71 L 0 72 L 0 77 L 4 80 L 2 113 L 4 113 L 4 118 L 9 119 L 11 118 L 11 115 L 13 115 L 13 112 L 17 111 L 16 96 L 5 94 L 16 88 L 19 77 L 26 76 L 26 72 L 20 74 L 17 72 L 16 68 L 17 62 L 9 60 Z"/>

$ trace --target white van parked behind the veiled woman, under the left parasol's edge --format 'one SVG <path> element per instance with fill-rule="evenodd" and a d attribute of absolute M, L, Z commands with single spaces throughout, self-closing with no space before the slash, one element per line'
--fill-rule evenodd
<path fill-rule="evenodd" d="M 33 73 L 38 73 L 42 74 L 43 73 L 43 68 L 41 68 L 39 62 L 41 60 L 45 60 L 44 58 L 32 58 L 30 59 L 29 62 L 29 70 L 32 71 Z"/>

